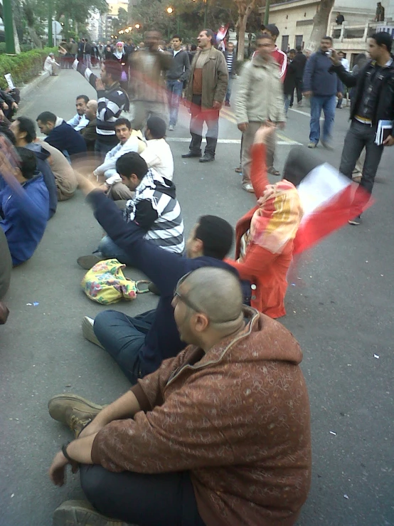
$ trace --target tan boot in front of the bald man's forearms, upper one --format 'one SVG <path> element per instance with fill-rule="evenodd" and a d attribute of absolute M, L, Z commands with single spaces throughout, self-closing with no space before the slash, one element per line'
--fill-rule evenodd
<path fill-rule="evenodd" d="M 77 394 L 58 394 L 48 401 L 48 411 L 54 420 L 68 426 L 78 438 L 82 429 L 105 406 L 98 406 Z"/>

